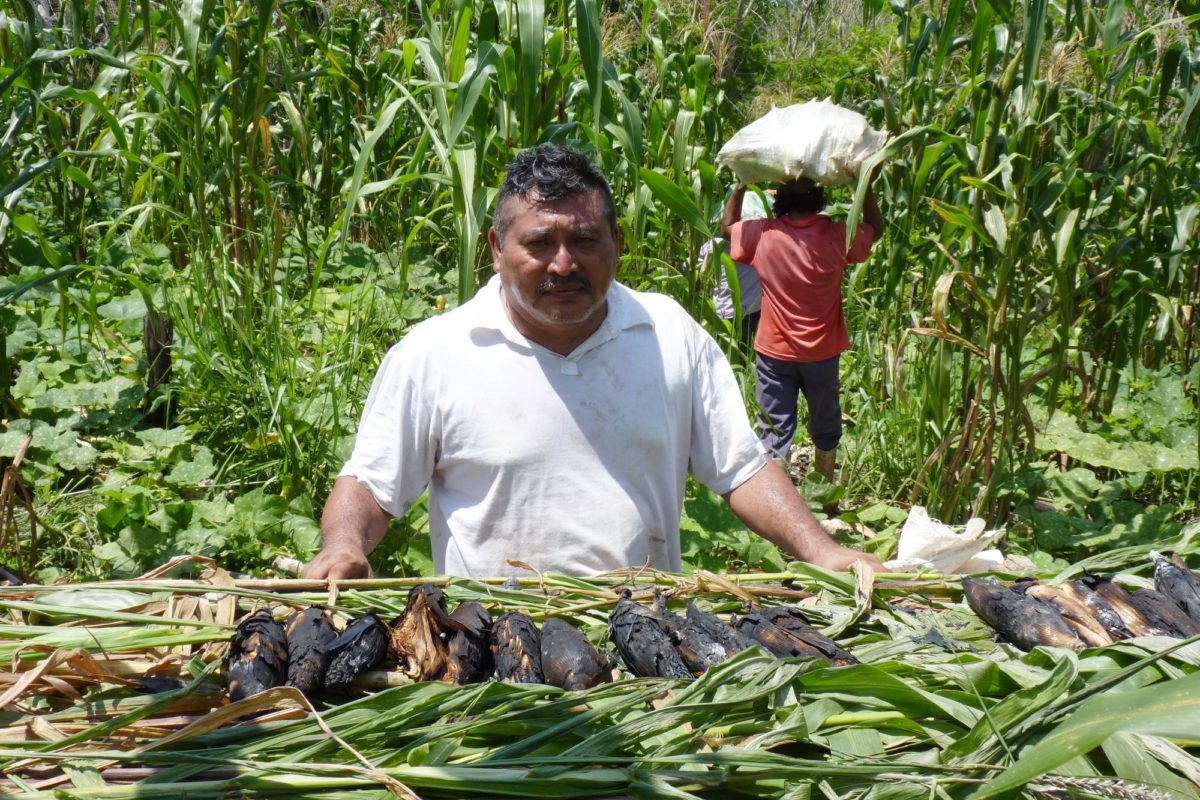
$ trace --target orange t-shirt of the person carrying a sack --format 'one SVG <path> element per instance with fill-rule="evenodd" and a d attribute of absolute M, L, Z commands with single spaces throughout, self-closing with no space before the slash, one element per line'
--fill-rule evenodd
<path fill-rule="evenodd" d="M 730 255 L 762 279 L 762 319 L 754 349 L 781 361 L 824 361 L 850 349 L 841 275 L 871 253 L 875 229 L 862 224 L 846 251 L 846 223 L 820 213 L 748 219 L 733 225 Z"/>

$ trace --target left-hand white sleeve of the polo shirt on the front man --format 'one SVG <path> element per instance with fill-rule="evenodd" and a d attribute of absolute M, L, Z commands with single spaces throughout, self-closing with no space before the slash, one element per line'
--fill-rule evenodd
<path fill-rule="evenodd" d="M 384 357 L 376 373 L 354 451 L 338 477 L 354 476 L 379 507 L 403 516 L 433 476 L 439 425 L 420 387 L 421 369 L 408 339 Z"/>

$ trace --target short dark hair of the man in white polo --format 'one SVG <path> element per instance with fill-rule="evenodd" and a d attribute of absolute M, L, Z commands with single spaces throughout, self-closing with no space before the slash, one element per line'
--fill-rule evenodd
<path fill-rule="evenodd" d="M 505 209 L 509 198 L 521 198 L 535 203 L 550 203 L 572 194 L 600 192 L 604 200 L 605 217 L 613 234 L 617 233 L 617 209 L 612 200 L 612 190 L 604 173 L 590 158 L 577 150 L 562 145 L 542 143 L 523 150 L 509 162 L 504 184 L 496 198 L 496 213 L 492 216 L 492 228 L 500 241 L 512 221 L 511 211 Z"/>

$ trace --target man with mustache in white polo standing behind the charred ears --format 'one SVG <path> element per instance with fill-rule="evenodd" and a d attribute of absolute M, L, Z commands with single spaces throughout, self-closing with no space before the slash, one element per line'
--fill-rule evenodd
<path fill-rule="evenodd" d="M 798 558 L 880 566 L 833 542 L 763 455 L 713 339 L 670 297 L 614 283 L 612 193 L 587 157 L 517 156 L 488 241 L 492 281 L 379 367 L 305 577 L 371 575 L 426 487 L 439 573 L 678 571 L 689 471 Z"/>

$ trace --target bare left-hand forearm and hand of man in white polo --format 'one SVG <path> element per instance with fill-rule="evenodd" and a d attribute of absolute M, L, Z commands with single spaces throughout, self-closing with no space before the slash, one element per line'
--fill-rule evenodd
<path fill-rule="evenodd" d="M 388 533 L 391 516 L 365 486 L 342 476 L 325 501 L 320 517 L 320 552 L 305 569 L 305 578 L 370 578 L 367 555 Z"/>

